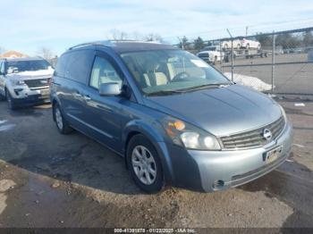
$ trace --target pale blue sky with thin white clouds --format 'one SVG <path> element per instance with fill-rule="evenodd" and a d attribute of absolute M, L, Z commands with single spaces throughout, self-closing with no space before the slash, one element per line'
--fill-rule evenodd
<path fill-rule="evenodd" d="M 313 26 L 311 0 L 0 0 L 0 46 L 36 54 L 47 46 L 61 54 L 80 42 L 106 39 L 112 29 L 129 35 L 227 37 Z"/>

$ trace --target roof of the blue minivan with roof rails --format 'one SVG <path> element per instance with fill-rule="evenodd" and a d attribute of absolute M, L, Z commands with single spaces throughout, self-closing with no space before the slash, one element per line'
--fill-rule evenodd
<path fill-rule="evenodd" d="M 106 40 L 106 41 L 95 41 L 79 44 L 77 46 L 72 46 L 69 50 L 74 50 L 81 47 L 89 46 L 98 46 L 98 47 L 110 47 L 118 54 L 123 54 L 127 52 L 135 51 L 144 51 L 144 50 L 160 50 L 160 49 L 177 49 L 177 47 L 165 45 L 157 42 L 143 42 L 143 41 L 115 41 L 115 40 Z"/>

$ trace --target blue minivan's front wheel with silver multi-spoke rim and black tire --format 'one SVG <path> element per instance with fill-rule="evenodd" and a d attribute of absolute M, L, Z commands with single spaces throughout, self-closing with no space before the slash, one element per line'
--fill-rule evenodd
<path fill-rule="evenodd" d="M 140 189 L 152 194 L 164 188 L 162 164 L 157 150 L 148 138 L 141 134 L 132 137 L 126 154 L 131 178 Z"/>

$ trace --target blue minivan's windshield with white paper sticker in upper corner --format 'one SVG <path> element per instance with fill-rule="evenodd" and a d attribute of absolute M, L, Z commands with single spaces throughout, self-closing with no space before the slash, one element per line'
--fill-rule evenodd
<path fill-rule="evenodd" d="M 230 84 L 220 72 L 183 50 L 150 50 L 121 54 L 146 95 L 165 95 Z"/>

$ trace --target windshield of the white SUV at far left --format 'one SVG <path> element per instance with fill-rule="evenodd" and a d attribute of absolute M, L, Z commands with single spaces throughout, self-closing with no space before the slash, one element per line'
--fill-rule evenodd
<path fill-rule="evenodd" d="M 22 71 L 47 70 L 51 66 L 46 60 L 8 61 L 6 72 L 18 73 Z"/>

